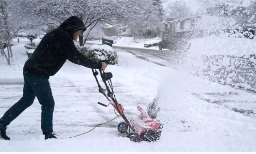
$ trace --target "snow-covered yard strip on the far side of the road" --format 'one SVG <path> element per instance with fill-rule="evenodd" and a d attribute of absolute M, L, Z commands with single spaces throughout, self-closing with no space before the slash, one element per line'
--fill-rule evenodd
<path fill-rule="evenodd" d="M 143 49 L 154 49 L 159 50 L 159 47 L 149 47 L 145 48 L 144 44 L 154 44 L 157 42 L 160 42 L 162 39 L 159 37 L 155 38 L 148 38 L 148 39 L 141 39 L 141 40 L 133 40 L 133 37 L 121 37 L 117 40 L 114 40 L 113 47 L 131 47 L 131 48 L 143 48 Z M 102 44 L 101 40 L 95 40 L 95 41 L 86 41 L 86 43 L 95 43 L 95 44 Z M 168 49 L 163 49 L 168 50 Z"/>

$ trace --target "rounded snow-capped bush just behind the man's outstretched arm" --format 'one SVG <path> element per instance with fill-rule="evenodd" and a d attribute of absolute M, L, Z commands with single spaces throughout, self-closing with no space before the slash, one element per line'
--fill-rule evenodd
<path fill-rule="evenodd" d="M 102 61 L 102 60 L 108 60 L 110 65 L 118 64 L 118 55 L 116 50 L 114 50 L 112 47 L 103 44 L 103 45 L 97 45 L 93 44 L 91 46 L 76 46 L 76 48 L 89 58 L 96 60 L 96 61 Z"/>

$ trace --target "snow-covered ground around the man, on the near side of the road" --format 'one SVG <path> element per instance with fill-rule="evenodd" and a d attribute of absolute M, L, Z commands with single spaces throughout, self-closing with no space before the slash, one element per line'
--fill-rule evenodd
<path fill-rule="evenodd" d="M 24 44 L 13 46 L 13 52 L 17 58 L 14 56 L 10 66 L 0 57 L 0 116 L 22 96 Z M 115 117 L 113 107 L 97 104 L 107 100 L 98 92 L 92 70 L 67 61 L 49 80 L 55 99 L 54 131 L 63 139 L 44 140 L 36 99 L 9 125 L 11 140 L 0 140 L 0 151 L 256 151 L 256 118 L 231 109 L 233 105 L 255 110 L 254 102 L 238 106 L 236 102 L 255 100 L 254 94 L 144 61 L 123 50 L 117 53 L 119 65 L 109 65 L 106 72 L 113 73 L 114 92 L 127 117 L 139 114 L 137 105 L 146 109 L 154 97 L 160 98 L 158 116 L 164 127 L 158 142 L 134 143 L 120 137 L 116 127 L 121 118 L 85 135 L 65 138 Z M 234 101 L 225 106 L 202 100 L 216 93 Z"/>

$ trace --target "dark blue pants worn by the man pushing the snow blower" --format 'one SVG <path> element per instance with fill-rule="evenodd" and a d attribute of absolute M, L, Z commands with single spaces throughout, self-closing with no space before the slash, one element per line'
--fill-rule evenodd
<path fill-rule="evenodd" d="M 30 73 L 23 72 L 24 87 L 22 98 L 15 103 L 4 116 L 0 119 L 0 124 L 9 125 L 15 118 L 17 118 L 25 109 L 31 106 L 35 97 L 42 105 L 41 113 L 41 129 L 43 134 L 50 134 L 53 132 L 53 110 L 54 99 L 52 90 L 50 89 L 49 77 L 36 76 Z M 29 123 L 29 121 L 28 121 Z"/>

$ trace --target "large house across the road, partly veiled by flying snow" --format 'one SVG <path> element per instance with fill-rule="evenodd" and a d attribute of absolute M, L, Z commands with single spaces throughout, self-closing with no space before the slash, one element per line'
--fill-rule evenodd
<path fill-rule="evenodd" d="M 194 14 L 188 18 L 174 20 L 167 18 L 164 22 L 165 29 L 159 49 L 168 48 L 176 50 L 180 47 L 189 47 L 192 38 L 200 38 L 209 34 L 218 34 L 222 30 L 234 28 L 236 21 L 231 18 Z"/>

